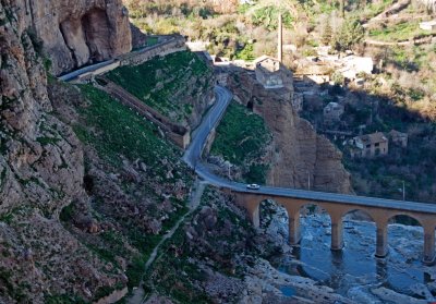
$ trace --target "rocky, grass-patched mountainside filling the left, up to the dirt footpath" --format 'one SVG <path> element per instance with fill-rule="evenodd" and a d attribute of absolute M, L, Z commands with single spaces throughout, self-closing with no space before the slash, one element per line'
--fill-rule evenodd
<path fill-rule="evenodd" d="M 78 15 L 96 7 L 116 12 L 109 1 L 81 3 L 69 3 L 83 4 Z M 108 97 L 90 86 L 84 97 L 77 87 L 47 81 L 40 41 L 57 37 L 58 27 L 40 27 L 40 37 L 28 27 L 31 9 L 43 4 L 56 15 L 73 10 L 66 1 L 0 0 L 0 303 L 118 297 L 138 284 L 146 251 L 184 211 L 192 173 L 133 111 L 102 102 Z M 63 71 L 73 57 L 53 51 L 64 48 L 59 44 L 45 47 Z M 95 45 L 96 52 L 107 46 Z M 110 122 L 99 125 L 98 113 Z"/>

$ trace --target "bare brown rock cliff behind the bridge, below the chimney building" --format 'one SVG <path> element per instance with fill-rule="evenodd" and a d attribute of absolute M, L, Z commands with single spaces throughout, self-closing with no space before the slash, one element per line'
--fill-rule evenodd
<path fill-rule="evenodd" d="M 341 163 L 340 151 L 295 114 L 288 92 L 265 89 L 245 72 L 230 76 L 229 86 L 237 100 L 253 107 L 274 133 L 276 148 L 271 155 L 270 184 L 307 189 L 310 178 L 313 190 L 352 191 L 350 174 Z"/>

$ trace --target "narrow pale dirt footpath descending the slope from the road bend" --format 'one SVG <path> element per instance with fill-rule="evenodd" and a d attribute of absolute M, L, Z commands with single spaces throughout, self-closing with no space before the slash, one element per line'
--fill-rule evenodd
<path fill-rule="evenodd" d="M 156 245 L 156 247 L 153 250 L 152 255 L 149 256 L 147 263 L 145 264 L 144 267 L 144 273 L 147 271 L 147 269 L 152 266 L 152 264 L 155 262 L 156 256 L 159 252 L 160 246 L 167 241 L 168 239 L 172 238 L 174 232 L 179 229 L 180 224 L 184 222 L 185 218 L 190 216 L 195 209 L 199 206 L 199 203 L 202 200 L 202 195 L 204 193 L 204 190 L 207 185 L 207 182 L 199 181 L 198 179 L 195 181 L 194 185 L 194 192 L 191 194 L 190 203 L 187 207 L 190 210 L 181 217 L 178 222 L 171 228 L 167 234 L 164 235 L 164 238 L 160 240 L 160 242 Z M 128 300 L 129 304 L 142 304 L 144 303 L 147 294 L 145 294 L 144 289 L 142 288 L 144 283 L 144 277 L 141 280 L 140 287 L 135 290 L 133 290 L 133 295 Z"/>

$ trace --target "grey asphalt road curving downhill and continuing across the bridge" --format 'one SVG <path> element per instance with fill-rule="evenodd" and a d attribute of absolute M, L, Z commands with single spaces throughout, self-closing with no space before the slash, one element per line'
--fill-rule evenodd
<path fill-rule="evenodd" d="M 218 125 L 220 119 L 228 105 L 232 99 L 232 94 L 221 87 L 216 86 L 216 102 L 207 112 L 202 121 L 202 124 L 194 131 L 192 135 L 192 143 L 186 149 L 183 160 L 195 170 L 197 175 L 204 179 L 211 185 L 232 190 L 239 193 L 256 193 L 264 194 L 271 197 L 289 197 L 289 198 L 303 198 L 312 202 L 328 202 L 338 204 L 348 204 L 356 206 L 378 207 L 386 209 L 402 209 L 407 211 L 419 211 L 425 214 L 436 215 L 436 204 L 425 204 L 408 200 L 393 200 L 377 197 L 356 196 L 348 194 L 315 192 L 305 190 L 294 190 L 284 187 L 262 186 L 259 190 L 249 190 L 245 184 L 232 182 L 223 178 L 217 177 L 211 173 L 207 167 L 202 163 L 202 150 L 207 142 L 207 137 L 211 130 Z"/>

